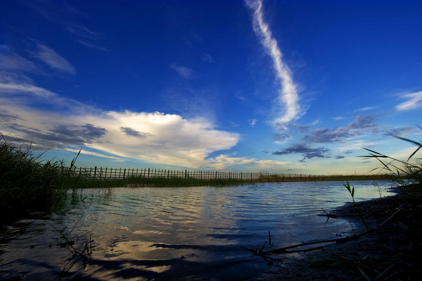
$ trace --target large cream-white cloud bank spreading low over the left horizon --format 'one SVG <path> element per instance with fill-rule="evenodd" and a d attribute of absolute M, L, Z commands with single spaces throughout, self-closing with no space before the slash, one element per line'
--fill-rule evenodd
<path fill-rule="evenodd" d="M 34 101 L 43 107 L 53 103 L 55 110 L 33 108 Z M 214 129 L 205 119 L 160 112 L 101 111 L 33 85 L 0 83 L 0 112 L 7 117 L 0 120 L 0 132 L 33 140 L 37 147 L 67 150 L 77 145 L 108 158 L 188 168 L 224 166 L 218 157 L 207 158 L 240 139 L 239 134 Z"/>

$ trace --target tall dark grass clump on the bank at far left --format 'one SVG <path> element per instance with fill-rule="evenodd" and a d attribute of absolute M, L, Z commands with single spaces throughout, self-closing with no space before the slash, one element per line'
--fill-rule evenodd
<path fill-rule="evenodd" d="M 43 153 L 34 155 L 31 145 L 17 146 L 16 142 L 0 133 L 0 211 L 44 206 L 66 194 L 76 178 L 65 169 L 64 161 L 41 161 Z"/>

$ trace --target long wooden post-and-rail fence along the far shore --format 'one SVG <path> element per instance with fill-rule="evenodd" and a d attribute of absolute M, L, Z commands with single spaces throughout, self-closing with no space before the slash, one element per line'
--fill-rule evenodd
<path fill-rule="evenodd" d="M 221 171 L 190 171 L 166 169 L 126 169 L 126 168 L 73 168 L 75 174 L 94 179 L 128 179 L 132 176 L 143 178 L 186 178 L 186 179 L 238 179 L 251 182 L 308 182 L 327 181 L 335 175 L 305 175 L 263 172 L 221 172 Z"/>

